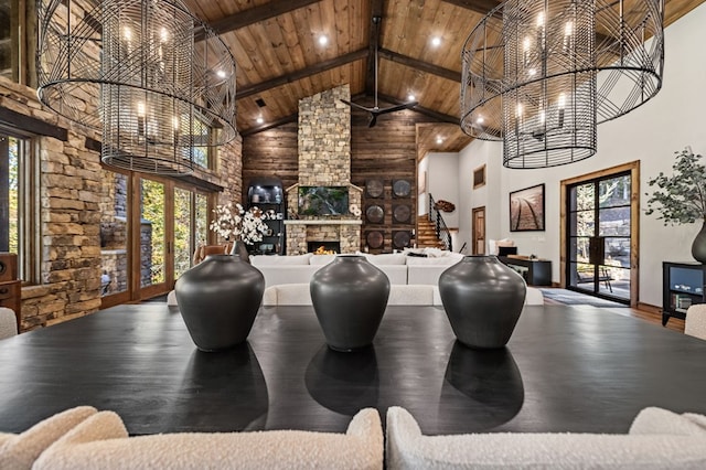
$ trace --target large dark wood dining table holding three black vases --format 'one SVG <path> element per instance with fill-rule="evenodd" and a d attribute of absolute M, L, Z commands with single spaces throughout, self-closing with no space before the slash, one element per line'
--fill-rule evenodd
<path fill-rule="evenodd" d="M 327 348 L 311 307 L 263 307 L 245 344 L 206 353 L 178 308 L 125 305 L 0 341 L 0 431 L 13 432 L 78 405 L 117 412 L 132 435 L 344 431 L 360 408 L 394 405 L 430 435 L 625 432 L 646 406 L 706 414 L 706 341 L 586 306 L 525 307 L 488 351 L 458 343 L 441 307 L 388 307 L 354 353 Z"/>

